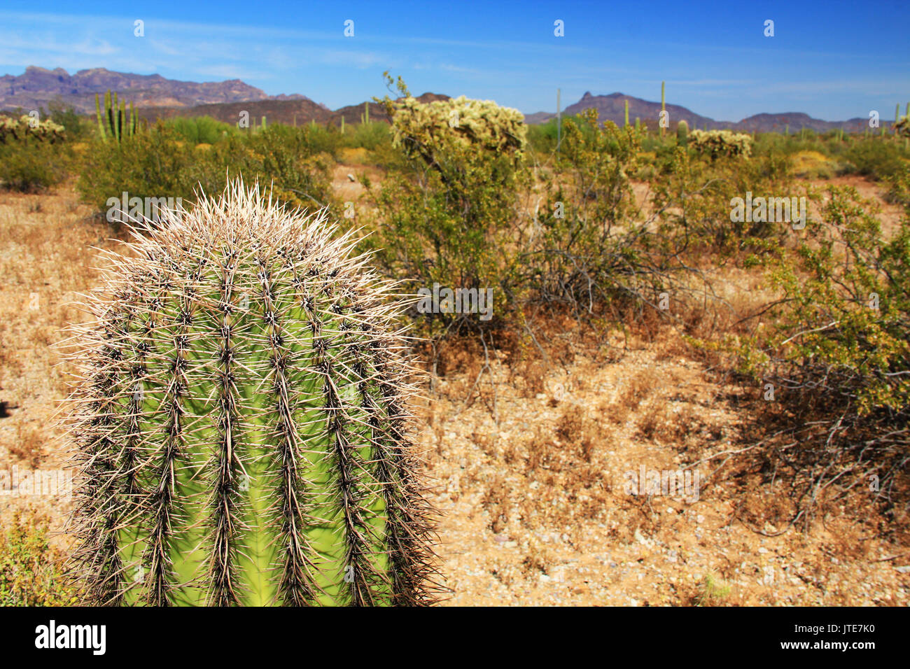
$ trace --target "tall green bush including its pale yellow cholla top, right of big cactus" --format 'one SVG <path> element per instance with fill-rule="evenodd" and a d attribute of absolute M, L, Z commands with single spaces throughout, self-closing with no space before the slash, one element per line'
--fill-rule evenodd
<path fill-rule="evenodd" d="M 464 97 L 421 104 L 399 89 L 405 96 L 384 104 L 403 161 L 374 193 L 378 234 L 368 246 L 411 289 L 492 289 L 499 316 L 514 288 L 521 114 Z M 428 313 L 423 323 L 431 334 L 483 324 L 471 313 Z"/>

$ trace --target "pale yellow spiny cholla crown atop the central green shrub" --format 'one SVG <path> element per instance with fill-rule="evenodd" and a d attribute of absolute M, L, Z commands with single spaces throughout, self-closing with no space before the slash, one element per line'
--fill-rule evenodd
<path fill-rule="evenodd" d="M 430 167 L 439 168 L 440 154 L 487 149 L 519 161 L 527 127 L 517 109 L 490 100 L 465 96 L 420 103 L 414 97 L 398 100 L 392 117 L 395 146 L 419 154 Z"/>

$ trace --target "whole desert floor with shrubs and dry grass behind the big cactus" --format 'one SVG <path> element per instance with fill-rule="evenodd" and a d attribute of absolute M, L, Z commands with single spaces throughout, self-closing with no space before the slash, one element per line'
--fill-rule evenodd
<path fill-rule="evenodd" d="M 824 135 L 592 111 L 526 126 L 387 83 L 374 103 L 389 122 L 146 124 L 99 100 L 97 117 L 54 110 L 44 135 L 4 131 L 5 464 L 63 466 L 49 416 L 72 365 L 50 344 L 98 280 L 90 246 L 128 234 L 112 200 L 192 211 L 242 177 L 325 209 L 404 290 L 437 287 L 397 322 L 426 371 L 414 411 L 451 601 L 907 603 L 906 117 Z M 630 491 L 640 464 L 697 471 L 701 492 Z M 68 502 L 47 507 L 59 545 L 6 513 L 0 561 L 61 568 Z M 20 603 L 78 589 L 11 583 L 0 596 Z"/>

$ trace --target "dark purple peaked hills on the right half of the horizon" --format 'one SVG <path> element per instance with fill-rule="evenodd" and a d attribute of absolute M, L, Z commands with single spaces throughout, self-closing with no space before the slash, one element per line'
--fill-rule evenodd
<path fill-rule="evenodd" d="M 657 127 L 661 113 L 661 103 L 642 100 L 640 97 L 626 96 L 622 93 L 611 93 L 609 96 L 594 96 L 590 92 L 581 96 L 573 105 L 562 110 L 563 116 L 573 116 L 585 109 L 597 109 L 598 117 L 602 121 L 610 120 L 617 125 L 622 125 L 625 114 L 625 100 L 629 100 L 629 122 L 634 123 L 635 117 L 642 119 L 648 127 Z M 755 114 L 743 118 L 738 122 L 715 121 L 710 117 L 703 117 L 684 106 L 668 104 L 667 112 L 670 115 L 670 127 L 675 130 L 676 124 L 684 120 L 690 128 L 707 127 L 709 130 L 744 130 L 747 132 L 784 132 L 789 126 L 790 132 L 799 132 L 802 128 L 812 129 L 816 132 L 825 132 L 843 128 L 849 132 L 862 132 L 867 127 L 868 119 L 862 117 L 850 118 L 846 121 L 823 121 L 813 118 L 802 112 L 784 112 L 778 114 Z M 546 123 L 556 117 L 552 112 L 535 112 L 526 114 L 525 123 Z M 881 124 L 890 125 L 894 121 L 882 120 Z"/>

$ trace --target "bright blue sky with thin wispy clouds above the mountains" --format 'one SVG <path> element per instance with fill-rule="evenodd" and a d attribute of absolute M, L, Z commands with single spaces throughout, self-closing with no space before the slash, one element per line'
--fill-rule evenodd
<path fill-rule="evenodd" d="M 34 6 L 39 13 L 23 9 Z M 134 21 L 145 22 L 136 37 Z M 354 36 L 343 35 L 354 21 Z M 553 35 L 564 22 L 565 36 Z M 763 35 L 766 19 L 774 36 Z M 89 67 L 240 78 L 331 108 L 424 91 L 529 113 L 585 91 L 660 99 L 718 120 L 806 112 L 843 120 L 910 100 L 910 1 L 134 2 L 0 4 L 0 73 Z"/>

